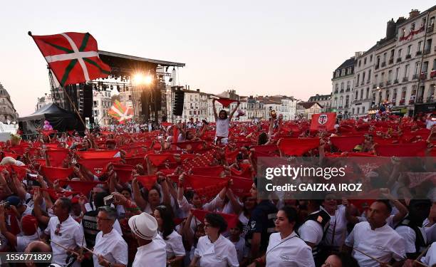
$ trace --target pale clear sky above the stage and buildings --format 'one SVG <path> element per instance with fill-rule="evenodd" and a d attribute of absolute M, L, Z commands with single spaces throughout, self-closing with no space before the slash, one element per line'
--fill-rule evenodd
<path fill-rule="evenodd" d="M 104 51 L 185 63 L 180 85 L 207 93 L 331 93 L 331 76 L 420 1 L 6 1 L 0 83 L 20 116 L 48 93 L 46 61 L 27 35 L 89 32 Z"/>

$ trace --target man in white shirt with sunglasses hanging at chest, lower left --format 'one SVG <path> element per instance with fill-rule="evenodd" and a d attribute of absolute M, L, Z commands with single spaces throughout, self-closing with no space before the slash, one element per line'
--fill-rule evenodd
<path fill-rule="evenodd" d="M 46 230 L 41 235 L 41 239 L 51 239 L 51 248 L 53 249 L 53 263 L 66 266 L 67 251 L 78 251 L 81 246 L 86 246 L 83 229 L 77 221 L 71 216 L 71 200 L 61 197 L 53 205 L 53 214 L 49 218 L 41 213 L 40 203 L 42 199 L 41 192 L 36 192 L 35 204 L 33 211 L 35 216 L 42 224 L 47 224 Z M 77 261 L 73 263 L 74 267 L 80 266 Z"/>

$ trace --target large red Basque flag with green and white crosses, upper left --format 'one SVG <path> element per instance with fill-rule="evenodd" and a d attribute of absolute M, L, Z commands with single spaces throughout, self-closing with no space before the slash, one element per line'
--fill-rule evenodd
<path fill-rule="evenodd" d="M 89 33 L 69 32 L 48 36 L 32 36 L 32 38 L 62 86 L 106 78 L 110 73 L 110 67 L 98 57 L 97 41 Z M 90 56 L 83 58 L 85 66 L 78 63 L 77 59 L 56 60 L 50 58 L 51 56 L 66 56 L 68 53 L 73 53 L 74 49 L 68 38 L 76 44 L 76 49 L 78 48 L 80 52 L 94 52 L 94 54 L 90 53 Z M 88 76 L 85 76 L 85 73 L 88 73 Z"/>

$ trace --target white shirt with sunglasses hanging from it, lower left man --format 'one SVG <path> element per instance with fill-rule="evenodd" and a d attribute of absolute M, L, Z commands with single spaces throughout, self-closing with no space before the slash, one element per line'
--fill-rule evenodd
<path fill-rule="evenodd" d="M 71 216 L 62 222 L 59 235 L 55 234 L 56 226 L 59 224 L 59 219 L 57 216 L 53 216 L 48 221 L 48 226 L 44 230 L 44 234 L 50 235 L 50 239 L 57 244 L 60 244 L 66 248 L 76 248 L 76 246 L 86 246 L 86 241 L 83 239 L 83 228 L 77 221 L 75 221 Z M 65 249 L 51 243 L 51 248 L 53 250 L 52 263 L 57 263 L 61 266 L 66 265 L 66 251 Z M 80 266 L 80 263 L 76 261 L 73 266 Z"/>

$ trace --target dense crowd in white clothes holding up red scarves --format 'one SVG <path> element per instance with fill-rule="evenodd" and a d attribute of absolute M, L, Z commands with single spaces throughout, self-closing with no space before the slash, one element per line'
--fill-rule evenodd
<path fill-rule="evenodd" d="M 281 115 L 232 122 L 237 108 L 214 108 L 215 122 L 12 136 L 0 153 L 1 251 L 51 252 L 58 266 L 435 265 L 435 178 L 411 187 L 401 159 L 434 172 L 430 122 L 338 120 L 325 132 Z M 392 160 L 356 172 L 378 184 L 366 205 L 335 192 L 262 198 L 258 157 L 296 156 Z"/>

